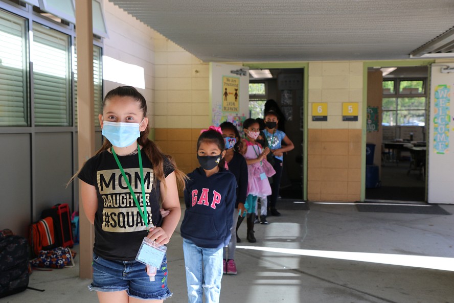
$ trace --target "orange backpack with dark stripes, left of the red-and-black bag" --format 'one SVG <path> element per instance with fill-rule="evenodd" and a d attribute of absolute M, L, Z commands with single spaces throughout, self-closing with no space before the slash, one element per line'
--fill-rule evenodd
<path fill-rule="evenodd" d="M 57 247 L 52 217 L 47 217 L 31 224 L 29 237 L 33 255 L 38 255 L 41 250 L 50 250 Z"/>

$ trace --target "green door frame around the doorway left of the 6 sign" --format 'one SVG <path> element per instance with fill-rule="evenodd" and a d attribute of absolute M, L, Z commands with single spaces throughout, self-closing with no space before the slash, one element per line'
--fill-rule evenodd
<path fill-rule="evenodd" d="M 309 119 L 309 63 L 308 62 L 254 62 L 243 63 L 243 66 L 249 68 L 304 68 L 303 79 L 303 110 L 304 114 L 304 131 L 303 131 L 303 200 L 307 201 L 307 140 L 308 140 L 308 119 Z"/>

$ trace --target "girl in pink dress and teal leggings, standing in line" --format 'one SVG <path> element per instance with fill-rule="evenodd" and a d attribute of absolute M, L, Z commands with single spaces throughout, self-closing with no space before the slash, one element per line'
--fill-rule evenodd
<path fill-rule="evenodd" d="M 244 158 L 247 164 L 247 198 L 245 208 L 247 215 L 239 214 L 237 229 L 241 224 L 244 216 L 246 216 L 247 232 L 246 239 L 251 243 L 257 242 L 254 237 L 254 219 L 255 219 L 255 205 L 257 196 L 264 196 L 271 194 L 271 187 L 268 182 L 268 177 L 275 174 L 273 166 L 266 160 L 266 155 L 269 149 L 262 149 L 262 146 L 256 142 L 260 134 L 259 123 L 252 118 L 246 119 L 243 122 L 243 130 L 246 134 L 246 152 Z"/>

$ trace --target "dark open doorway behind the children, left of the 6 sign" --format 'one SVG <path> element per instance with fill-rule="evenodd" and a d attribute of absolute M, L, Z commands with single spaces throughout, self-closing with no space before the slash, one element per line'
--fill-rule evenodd
<path fill-rule="evenodd" d="M 284 154 L 280 197 L 304 197 L 304 68 L 249 69 L 249 117 L 263 118 L 266 100 L 276 101 L 285 121 L 279 122 L 295 148 Z"/>

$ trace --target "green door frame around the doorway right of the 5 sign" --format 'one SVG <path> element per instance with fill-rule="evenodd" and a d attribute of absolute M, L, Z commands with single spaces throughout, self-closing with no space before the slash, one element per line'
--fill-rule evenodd
<path fill-rule="evenodd" d="M 369 67 L 402 67 L 402 66 L 430 66 L 435 63 L 433 60 L 396 60 L 396 61 L 364 61 L 362 68 L 362 139 L 361 139 L 361 201 L 366 200 L 366 141 L 367 141 L 367 71 Z M 427 76 L 430 83 L 430 68 Z M 429 97 L 428 97 L 429 98 Z M 427 102 L 428 104 L 428 102 Z M 428 132 L 426 132 L 428 135 Z M 427 161 L 427 159 L 426 159 Z M 428 163 L 428 162 L 426 162 Z M 426 178 L 427 183 L 427 178 Z M 427 201 L 427 184 L 426 184 Z"/>

